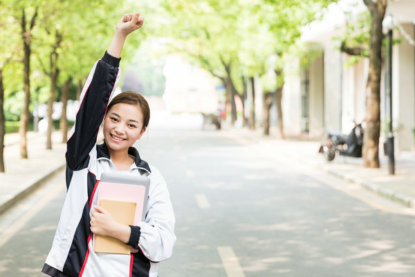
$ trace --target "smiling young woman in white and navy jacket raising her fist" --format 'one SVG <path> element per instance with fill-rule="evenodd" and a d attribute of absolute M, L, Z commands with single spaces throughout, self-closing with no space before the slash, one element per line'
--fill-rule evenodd
<path fill-rule="evenodd" d="M 127 35 L 140 28 L 138 13 L 120 19 L 107 52 L 95 63 L 82 91 L 66 152 L 66 199 L 42 272 L 49 276 L 157 276 L 158 262 L 172 255 L 174 213 L 163 176 L 140 159 L 131 145 L 149 123 L 147 101 L 138 93 L 120 93 L 111 102 L 119 80 L 120 54 Z M 104 143 L 97 145 L 104 120 Z M 137 226 L 119 224 L 96 206 L 102 172 L 149 177 L 147 214 Z M 98 253 L 92 233 L 129 244 L 131 255 Z"/>

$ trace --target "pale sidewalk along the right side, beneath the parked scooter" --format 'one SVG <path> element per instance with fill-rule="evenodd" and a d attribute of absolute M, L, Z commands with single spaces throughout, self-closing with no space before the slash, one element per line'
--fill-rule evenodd
<path fill-rule="evenodd" d="M 262 129 L 250 131 L 243 129 L 225 129 L 228 136 L 245 143 L 257 143 L 261 148 L 275 155 L 284 155 L 304 163 L 316 170 L 335 175 L 373 193 L 399 202 L 409 208 L 415 208 L 415 151 L 395 154 L 395 175 L 389 175 L 388 158 L 379 151 L 380 168 L 363 168 L 362 158 L 351 158 L 336 155 L 331 162 L 326 161 L 318 153 L 320 141 L 301 139 L 278 140 L 266 137 Z"/>

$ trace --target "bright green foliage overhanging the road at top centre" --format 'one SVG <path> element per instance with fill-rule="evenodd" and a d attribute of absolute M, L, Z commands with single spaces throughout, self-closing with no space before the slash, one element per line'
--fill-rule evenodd
<path fill-rule="evenodd" d="M 159 35 L 172 37 L 172 51 L 198 62 L 219 78 L 230 64 L 232 80 L 241 90 L 241 75 L 281 71 L 304 24 L 333 1 L 190 1 L 163 0 L 167 26 Z M 298 51 L 298 48 L 295 49 Z M 293 51 L 293 53 L 295 53 Z M 277 57 L 277 58 L 270 58 Z M 262 78 L 265 87 L 281 80 Z"/>

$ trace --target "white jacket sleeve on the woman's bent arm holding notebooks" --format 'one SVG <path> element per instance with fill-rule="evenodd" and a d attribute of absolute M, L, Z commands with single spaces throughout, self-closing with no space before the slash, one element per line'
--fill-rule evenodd
<path fill-rule="evenodd" d="M 148 213 L 145 222 L 138 224 L 138 247 L 151 262 L 167 260 L 172 256 L 176 235 L 172 202 L 165 179 L 157 168 L 151 167 L 151 185 Z"/>

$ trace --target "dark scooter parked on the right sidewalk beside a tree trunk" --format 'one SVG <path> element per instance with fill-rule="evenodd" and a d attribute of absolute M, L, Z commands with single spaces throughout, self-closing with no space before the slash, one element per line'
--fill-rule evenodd
<path fill-rule="evenodd" d="M 362 157 L 363 127 L 356 124 L 349 134 L 326 130 L 326 139 L 318 152 L 324 154 L 327 161 L 333 161 L 336 152 L 342 156 Z"/>

